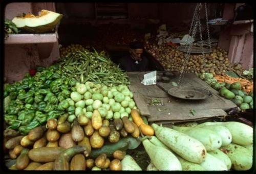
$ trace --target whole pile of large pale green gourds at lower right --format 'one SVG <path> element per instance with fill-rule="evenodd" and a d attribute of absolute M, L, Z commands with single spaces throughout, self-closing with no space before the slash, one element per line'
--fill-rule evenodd
<path fill-rule="evenodd" d="M 204 122 L 173 126 L 153 123 L 155 136 L 143 145 L 147 170 L 248 170 L 252 167 L 253 129 L 240 122 Z"/>

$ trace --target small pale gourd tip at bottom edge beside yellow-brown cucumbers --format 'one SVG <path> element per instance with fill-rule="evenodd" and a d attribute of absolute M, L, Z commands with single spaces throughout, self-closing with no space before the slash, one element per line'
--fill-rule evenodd
<path fill-rule="evenodd" d="M 130 155 L 125 155 L 121 161 L 122 170 L 141 171 L 142 169 Z"/>

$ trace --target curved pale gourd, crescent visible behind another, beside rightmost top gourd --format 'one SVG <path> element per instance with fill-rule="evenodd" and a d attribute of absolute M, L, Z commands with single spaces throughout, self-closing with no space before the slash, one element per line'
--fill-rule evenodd
<path fill-rule="evenodd" d="M 217 133 L 221 137 L 222 146 L 226 146 L 226 145 L 230 144 L 232 141 L 232 135 L 231 135 L 230 131 L 224 126 L 209 125 L 209 126 L 204 126 L 201 128 L 208 129 L 208 130 L 211 130 L 211 131 L 214 131 L 215 133 Z"/>

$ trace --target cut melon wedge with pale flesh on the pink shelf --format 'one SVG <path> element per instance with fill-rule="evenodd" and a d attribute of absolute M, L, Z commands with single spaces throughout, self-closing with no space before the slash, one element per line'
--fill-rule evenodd
<path fill-rule="evenodd" d="M 48 10 L 41 10 L 38 16 L 26 14 L 25 16 L 17 16 L 12 19 L 17 28 L 32 33 L 45 33 L 55 28 L 62 18 L 62 14 Z"/>

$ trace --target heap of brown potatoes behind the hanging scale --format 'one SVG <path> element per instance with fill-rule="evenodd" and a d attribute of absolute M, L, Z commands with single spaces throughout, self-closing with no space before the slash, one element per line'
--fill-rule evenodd
<path fill-rule="evenodd" d="M 222 75 L 226 71 L 242 73 L 242 66 L 232 65 L 227 58 L 227 52 L 219 47 L 213 48 L 212 53 L 205 54 L 204 61 L 202 55 L 190 55 L 185 59 L 186 53 L 168 45 L 157 45 L 155 42 L 146 42 L 145 49 L 162 64 L 166 71 L 181 72 L 184 68 L 185 72 L 196 73 L 210 72 Z M 183 67 L 186 60 L 186 65 Z"/>

